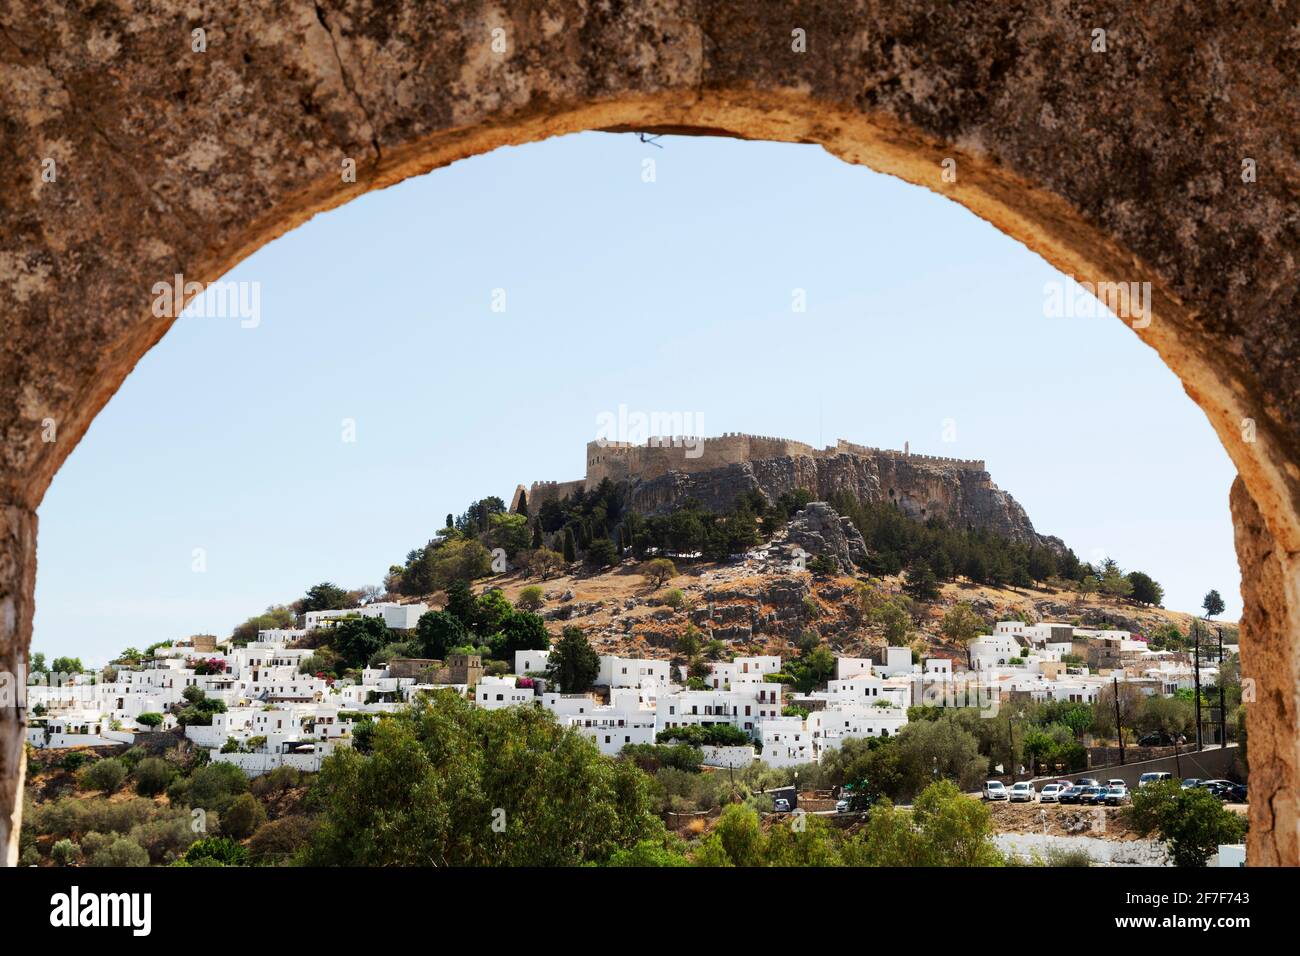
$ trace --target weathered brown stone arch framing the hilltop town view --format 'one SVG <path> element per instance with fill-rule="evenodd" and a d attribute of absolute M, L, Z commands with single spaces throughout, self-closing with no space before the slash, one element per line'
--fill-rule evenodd
<path fill-rule="evenodd" d="M 1300 122 L 1284 9 L 29 7 L 0 23 L 0 671 L 25 670 L 35 509 L 172 323 L 151 312 L 155 282 L 214 280 L 322 209 L 500 146 L 586 129 L 819 143 L 949 195 L 1067 274 L 1150 282 L 1135 330 L 1240 473 L 1251 861 L 1300 862 Z M 9 862 L 23 724 L 0 711 Z"/>

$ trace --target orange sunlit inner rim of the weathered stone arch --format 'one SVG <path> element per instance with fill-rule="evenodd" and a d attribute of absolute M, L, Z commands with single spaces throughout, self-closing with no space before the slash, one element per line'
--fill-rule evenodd
<path fill-rule="evenodd" d="M 1049 187 L 1017 176 L 976 144 L 958 148 L 901 121 L 879 114 L 867 117 L 835 101 L 818 101 L 805 92 L 781 90 L 692 88 L 623 95 L 577 108 L 551 109 L 545 104 L 511 116 L 495 116 L 489 111 L 474 121 L 385 146 L 382 153 L 358 164 L 355 183 L 312 174 L 289 183 L 292 189 L 244 199 L 229 209 L 228 222 L 234 226 L 229 230 L 230 238 L 220 245 L 208 242 L 207 237 L 188 243 L 173 242 L 176 255 L 174 259 L 169 256 L 169 268 L 199 282 L 213 281 L 315 213 L 363 193 L 500 146 L 581 130 L 621 129 L 816 143 L 846 163 L 948 195 L 1067 276 L 1091 282 L 1128 281 L 1135 272 L 1144 278 L 1149 276 L 1145 281 L 1152 287 L 1152 321 L 1135 332 L 1183 381 L 1240 473 L 1232 509 L 1247 604 L 1243 666 L 1260 674 L 1260 701 L 1270 709 L 1268 717 L 1260 718 L 1252 711 L 1252 743 L 1260 740 L 1264 744 L 1261 756 L 1268 760 L 1265 754 L 1273 754 L 1279 766 L 1275 778 L 1271 783 L 1265 780 L 1264 788 L 1265 793 L 1274 792 L 1278 800 L 1257 801 L 1258 808 L 1252 804 L 1252 856 L 1260 862 L 1296 862 L 1300 853 L 1294 797 L 1297 744 L 1294 722 L 1287 728 L 1288 715 L 1295 711 L 1295 615 L 1300 607 L 1300 575 L 1296 574 L 1300 470 L 1295 464 L 1294 445 L 1277 416 L 1252 394 L 1249 369 L 1238 356 L 1223 354 L 1219 342 L 1200 324 L 1197 311 L 1173 291 L 1162 269 L 1144 264 L 1135 251 L 1100 230 Z M 956 182 L 945 183 L 940 178 L 945 159 L 954 159 L 961 170 Z M 151 273 L 166 274 L 156 261 L 133 263 L 130 272 L 126 285 Z M 131 298 L 118 300 L 130 303 Z M 172 323 L 170 317 L 151 316 L 143 307 L 126 304 L 118 310 L 122 315 L 103 341 L 94 365 L 79 368 L 58 398 L 60 440 L 49 449 L 32 442 L 25 449 L 27 454 L 10 459 L 16 463 L 5 468 L 4 554 L 10 566 L 6 591 L 13 594 L 9 618 L 14 622 L 0 648 L 6 665 L 21 663 L 30 640 L 35 507 L 90 421 Z M 1243 429 L 1244 421 L 1253 423 L 1249 438 Z M 1248 648 L 1253 659 L 1247 656 Z M 1262 666 L 1264 658 L 1282 662 L 1275 676 L 1266 676 L 1270 669 Z M 0 810 L 10 823 L 8 832 L 0 836 L 10 848 L 12 862 L 17 856 L 21 719 L 8 721 L 0 730 L 4 735 L 0 775 L 5 783 Z M 1269 740 L 1271 747 L 1265 744 Z"/>

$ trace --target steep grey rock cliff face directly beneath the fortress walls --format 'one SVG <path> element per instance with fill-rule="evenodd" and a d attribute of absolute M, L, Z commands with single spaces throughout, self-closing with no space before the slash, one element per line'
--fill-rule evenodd
<path fill-rule="evenodd" d="M 671 472 L 633 480 L 630 503 L 641 514 L 656 515 L 696 498 L 711 511 L 725 511 L 746 492 L 759 490 L 775 501 L 781 493 L 800 488 L 822 501 L 836 492 L 848 492 L 862 501 L 893 502 L 922 522 L 942 518 L 953 527 L 987 528 L 1013 541 L 1060 544 L 1035 532 L 1024 509 L 994 485 L 987 471 L 932 460 L 848 453 L 828 458 L 768 458 L 694 475 Z"/>

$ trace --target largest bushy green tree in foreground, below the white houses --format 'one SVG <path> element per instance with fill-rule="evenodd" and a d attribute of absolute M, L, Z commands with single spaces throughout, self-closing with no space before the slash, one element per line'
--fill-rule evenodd
<path fill-rule="evenodd" d="M 309 803 L 311 865 L 572 866 L 663 839 L 632 762 L 545 710 L 452 693 L 382 721 L 370 756 L 328 757 Z"/>

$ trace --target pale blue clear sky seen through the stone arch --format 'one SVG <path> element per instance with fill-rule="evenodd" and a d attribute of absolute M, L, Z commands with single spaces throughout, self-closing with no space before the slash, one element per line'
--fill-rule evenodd
<path fill-rule="evenodd" d="M 580 477 L 620 403 L 984 458 L 1080 558 L 1240 613 L 1234 468 L 1123 323 L 1044 317 L 1043 260 L 818 147 L 660 143 L 499 150 L 229 273 L 261 284 L 260 325 L 182 316 L 46 496 L 34 648 L 103 661 L 225 635 L 318 580 L 378 584 L 448 511 Z"/>

